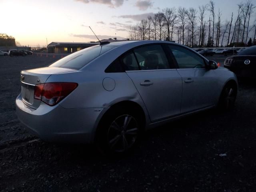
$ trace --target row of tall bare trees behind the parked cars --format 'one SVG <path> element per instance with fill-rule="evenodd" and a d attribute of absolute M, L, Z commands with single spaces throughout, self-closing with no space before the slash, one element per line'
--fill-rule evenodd
<path fill-rule="evenodd" d="M 190 47 L 222 47 L 256 45 L 255 6 L 252 0 L 237 5 L 230 20 L 222 20 L 220 9 L 212 0 L 196 8 L 164 8 L 129 28 L 130 40 L 174 39 Z M 206 18 L 208 13 L 209 18 Z M 237 14 L 237 15 L 236 15 Z M 253 17 L 254 16 L 254 17 Z M 254 32 L 253 40 L 249 34 Z"/>

